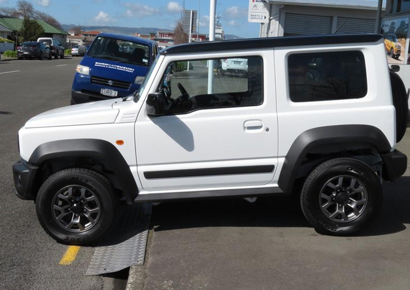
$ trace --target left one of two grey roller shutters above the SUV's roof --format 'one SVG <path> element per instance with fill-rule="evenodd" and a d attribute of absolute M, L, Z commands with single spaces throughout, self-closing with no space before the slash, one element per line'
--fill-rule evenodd
<path fill-rule="evenodd" d="M 332 16 L 285 13 L 284 34 L 330 34 Z"/>

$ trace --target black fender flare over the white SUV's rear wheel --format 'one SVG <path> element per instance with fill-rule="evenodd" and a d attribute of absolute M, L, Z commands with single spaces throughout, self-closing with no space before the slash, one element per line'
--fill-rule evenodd
<path fill-rule="evenodd" d="M 364 148 L 375 148 L 379 153 L 391 150 L 390 143 L 380 129 L 369 125 L 337 125 L 318 127 L 304 131 L 292 143 L 286 154 L 278 185 L 286 194 L 291 194 L 299 167 L 306 154 L 320 147 L 334 150 L 348 150 L 353 144 L 363 144 Z"/>

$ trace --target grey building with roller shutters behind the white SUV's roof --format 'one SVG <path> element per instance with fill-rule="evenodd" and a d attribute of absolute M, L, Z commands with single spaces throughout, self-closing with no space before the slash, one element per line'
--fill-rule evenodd
<path fill-rule="evenodd" d="M 266 0 L 270 21 L 261 36 L 374 33 L 377 1 Z"/>

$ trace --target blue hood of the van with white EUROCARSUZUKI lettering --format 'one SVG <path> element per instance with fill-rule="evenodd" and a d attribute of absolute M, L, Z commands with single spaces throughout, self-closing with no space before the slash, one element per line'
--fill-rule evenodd
<path fill-rule="evenodd" d="M 145 76 L 149 67 L 85 56 L 80 65 L 90 68 L 90 75 L 134 83 L 137 76 Z"/>

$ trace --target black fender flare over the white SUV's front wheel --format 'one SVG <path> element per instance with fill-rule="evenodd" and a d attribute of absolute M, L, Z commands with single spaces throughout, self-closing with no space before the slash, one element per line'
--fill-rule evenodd
<path fill-rule="evenodd" d="M 47 160 L 65 157 L 93 157 L 104 161 L 118 179 L 127 203 L 138 195 L 130 166 L 115 146 L 100 139 L 68 139 L 40 144 L 31 154 L 29 163 L 39 166 Z"/>

